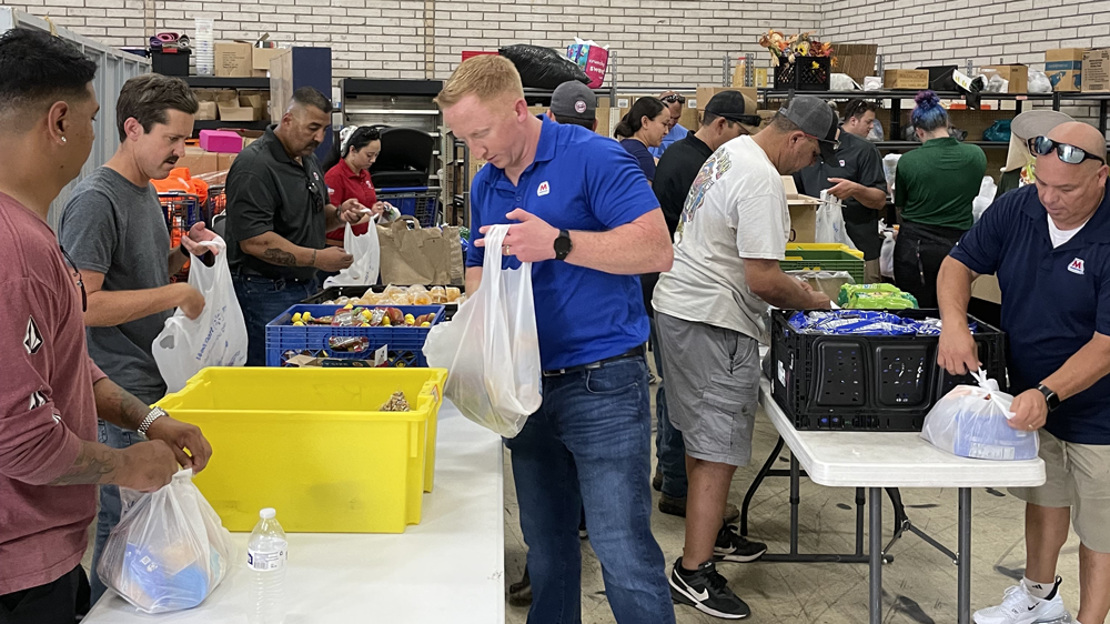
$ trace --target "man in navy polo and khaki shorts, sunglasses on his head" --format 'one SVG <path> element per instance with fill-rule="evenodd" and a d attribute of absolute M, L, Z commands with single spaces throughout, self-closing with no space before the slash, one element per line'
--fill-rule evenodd
<path fill-rule="evenodd" d="M 1026 501 L 1026 577 L 978 624 L 1067 621 L 1056 575 L 1072 521 L 1079 550 L 1077 622 L 1110 612 L 1110 199 L 1106 139 L 1069 122 L 1029 142 L 1037 184 L 1002 195 L 960 240 L 938 278 L 938 363 L 979 365 L 967 326 L 972 280 L 996 273 L 1016 394 L 1010 426 L 1038 431 L 1047 481 Z"/>

